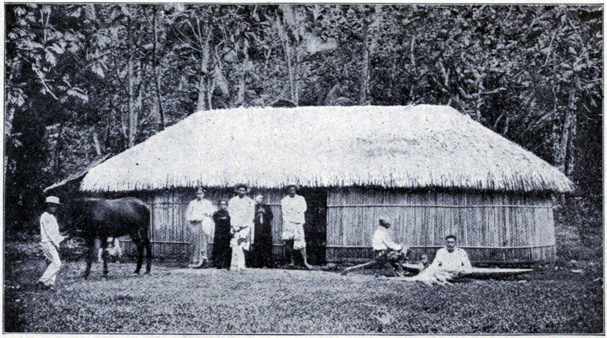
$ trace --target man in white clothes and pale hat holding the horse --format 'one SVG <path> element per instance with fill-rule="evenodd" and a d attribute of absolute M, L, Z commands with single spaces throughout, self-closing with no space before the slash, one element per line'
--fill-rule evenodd
<path fill-rule="evenodd" d="M 40 234 L 41 234 L 41 247 L 44 257 L 50 260 L 49 267 L 46 268 L 42 277 L 38 279 L 38 283 L 45 288 L 53 289 L 55 285 L 55 279 L 59 268 L 61 268 L 61 259 L 59 259 L 59 245 L 66 239 L 65 236 L 59 234 L 59 225 L 55 214 L 59 203 L 59 198 L 55 196 L 46 197 L 47 210 L 40 216 Z"/>

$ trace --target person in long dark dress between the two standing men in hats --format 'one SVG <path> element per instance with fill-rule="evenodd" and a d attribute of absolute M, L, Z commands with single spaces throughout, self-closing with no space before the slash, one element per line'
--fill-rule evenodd
<path fill-rule="evenodd" d="M 251 253 L 251 266 L 254 268 L 271 268 L 272 260 L 272 219 L 274 214 L 270 206 L 263 203 L 263 195 L 255 196 L 255 225 L 253 236 L 253 252 Z"/>

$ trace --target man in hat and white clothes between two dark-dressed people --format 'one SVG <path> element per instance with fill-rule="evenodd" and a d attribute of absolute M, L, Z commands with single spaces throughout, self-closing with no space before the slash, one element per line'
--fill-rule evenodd
<path fill-rule="evenodd" d="M 249 251 L 253 242 L 253 219 L 255 218 L 255 203 L 251 197 L 246 196 L 249 188 L 245 184 L 236 185 L 237 195 L 228 202 L 232 239 L 232 259 L 230 271 L 240 271 L 246 268 L 245 250 Z"/>

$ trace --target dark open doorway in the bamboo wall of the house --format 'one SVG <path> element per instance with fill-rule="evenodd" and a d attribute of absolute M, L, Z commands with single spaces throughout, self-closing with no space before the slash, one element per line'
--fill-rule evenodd
<path fill-rule="evenodd" d="M 308 263 L 324 265 L 327 262 L 327 190 L 301 188 L 297 194 L 304 196 L 308 205 L 304 224 Z M 301 264 L 301 256 L 295 256 L 296 263 Z"/>

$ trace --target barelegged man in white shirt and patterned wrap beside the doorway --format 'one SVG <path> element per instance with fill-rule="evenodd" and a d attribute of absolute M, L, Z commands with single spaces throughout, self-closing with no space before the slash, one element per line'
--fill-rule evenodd
<path fill-rule="evenodd" d="M 294 265 L 293 251 L 297 250 L 304 259 L 304 266 L 311 270 L 305 251 L 305 211 L 308 205 L 304 196 L 297 194 L 297 185 L 287 185 L 288 194 L 280 200 L 282 210 L 282 240 L 285 241 L 285 253 L 290 265 Z"/>

